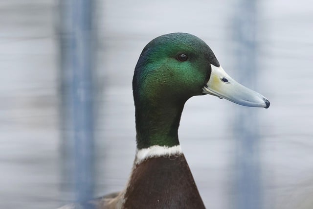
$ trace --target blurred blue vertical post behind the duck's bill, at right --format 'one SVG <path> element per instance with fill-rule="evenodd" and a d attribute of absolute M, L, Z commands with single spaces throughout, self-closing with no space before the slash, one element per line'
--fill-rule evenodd
<path fill-rule="evenodd" d="M 239 81 L 249 88 L 257 87 L 256 0 L 238 0 L 234 17 L 236 63 Z M 236 140 L 235 208 L 261 209 L 262 186 L 257 109 L 238 107 L 234 118 Z"/>

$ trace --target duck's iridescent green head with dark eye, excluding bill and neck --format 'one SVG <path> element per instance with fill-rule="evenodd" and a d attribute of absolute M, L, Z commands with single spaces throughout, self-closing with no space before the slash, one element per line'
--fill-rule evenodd
<path fill-rule="evenodd" d="M 152 40 L 135 67 L 133 91 L 136 102 L 186 101 L 201 95 L 211 65 L 220 67 L 213 51 L 198 37 L 171 33 Z M 157 100 L 157 101 L 156 101 Z"/>

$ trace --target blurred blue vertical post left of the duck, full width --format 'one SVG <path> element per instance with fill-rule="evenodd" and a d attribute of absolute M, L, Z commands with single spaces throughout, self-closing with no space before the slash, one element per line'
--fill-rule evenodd
<path fill-rule="evenodd" d="M 93 196 L 91 2 L 60 0 L 63 175 L 76 202 Z"/>

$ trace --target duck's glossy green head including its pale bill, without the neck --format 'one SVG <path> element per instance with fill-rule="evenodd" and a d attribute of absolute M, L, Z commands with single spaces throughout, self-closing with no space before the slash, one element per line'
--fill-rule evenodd
<path fill-rule="evenodd" d="M 135 102 L 186 101 L 211 94 L 244 106 L 269 107 L 268 99 L 232 79 L 211 48 L 188 33 L 162 35 L 145 46 L 135 67 L 133 91 Z"/>

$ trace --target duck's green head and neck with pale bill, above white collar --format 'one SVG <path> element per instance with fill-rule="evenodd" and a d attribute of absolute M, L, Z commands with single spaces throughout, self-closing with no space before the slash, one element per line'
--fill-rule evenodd
<path fill-rule="evenodd" d="M 183 105 L 195 95 L 211 94 L 244 106 L 269 107 L 268 99 L 232 79 L 211 48 L 188 33 L 162 35 L 144 47 L 134 70 L 133 93 L 137 145 L 138 138 L 151 137 L 164 124 L 169 127 L 157 130 L 157 139 L 162 134 L 177 135 Z M 166 119 L 169 117 L 172 119 Z M 150 131 L 142 135 L 147 132 L 143 129 Z"/>

